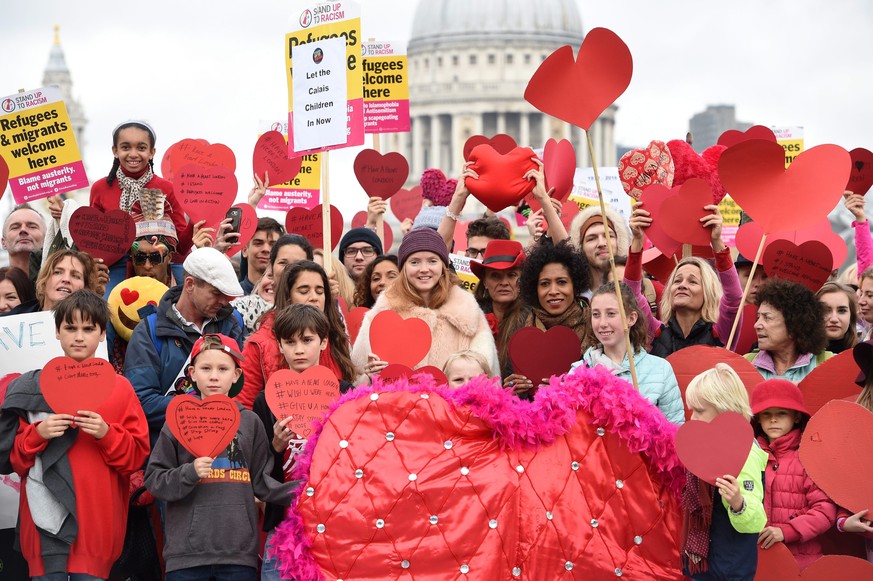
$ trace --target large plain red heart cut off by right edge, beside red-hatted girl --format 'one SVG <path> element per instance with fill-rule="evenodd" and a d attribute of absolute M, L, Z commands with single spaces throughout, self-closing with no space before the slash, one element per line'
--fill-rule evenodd
<path fill-rule="evenodd" d="M 826 403 L 806 425 L 800 462 L 810 478 L 852 513 L 873 509 L 873 412 L 856 403 Z"/>

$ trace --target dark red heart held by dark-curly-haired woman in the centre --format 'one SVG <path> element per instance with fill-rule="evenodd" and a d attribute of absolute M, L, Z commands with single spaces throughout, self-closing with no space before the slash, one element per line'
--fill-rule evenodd
<path fill-rule="evenodd" d="M 582 358 L 582 345 L 576 332 L 563 325 L 548 331 L 523 327 L 509 339 L 509 360 L 513 370 L 527 377 L 538 387 L 553 375 L 570 371 L 570 366 Z"/>

